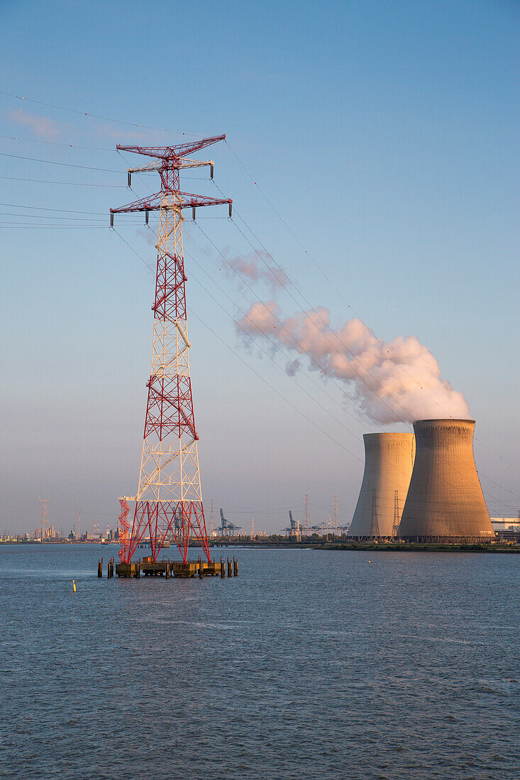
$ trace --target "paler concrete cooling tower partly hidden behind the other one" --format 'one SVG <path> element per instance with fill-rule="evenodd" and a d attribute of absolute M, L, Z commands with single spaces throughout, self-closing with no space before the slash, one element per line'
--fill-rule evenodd
<path fill-rule="evenodd" d="M 349 536 L 391 537 L 414 465 L 414 434 L 365 434 L 365 473 Z"/>

